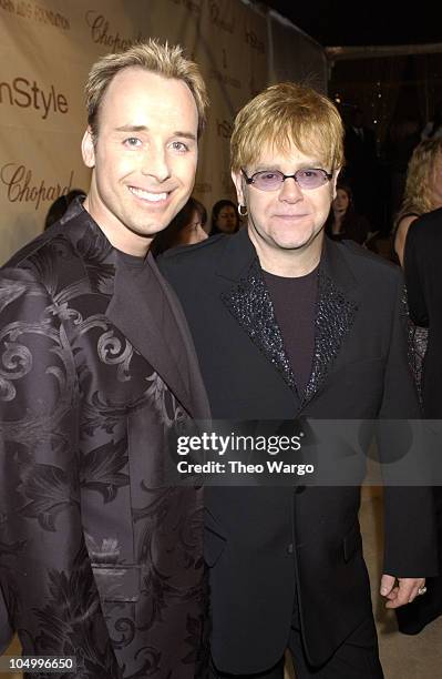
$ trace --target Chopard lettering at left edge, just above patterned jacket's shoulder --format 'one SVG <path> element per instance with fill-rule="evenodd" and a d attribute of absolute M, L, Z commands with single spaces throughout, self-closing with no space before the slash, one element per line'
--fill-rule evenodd
<path fill-rule="evenodd" d="M 7 186 L 7 199 L 10 203 L 33 203 L 38 210 L 42 202 L 51 203 L 62 194 L 71 191 L 74 171 L 71 170 L 68 183 L 47 184 L 44 179 L 34 181 L 32 170 L 25 165 L 7 163 L 0 170 L 0 180 Z"/>

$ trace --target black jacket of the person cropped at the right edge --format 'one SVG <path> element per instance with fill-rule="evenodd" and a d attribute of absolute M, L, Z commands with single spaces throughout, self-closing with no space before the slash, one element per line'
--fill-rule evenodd
<path fill-rule="evenodd" d="M 442 417 L 442 207 L 415 220 L 407 234 L 405 281 L 410 315 L 429 327 L 422 372 L 422 397 L 426 417 Z"/>

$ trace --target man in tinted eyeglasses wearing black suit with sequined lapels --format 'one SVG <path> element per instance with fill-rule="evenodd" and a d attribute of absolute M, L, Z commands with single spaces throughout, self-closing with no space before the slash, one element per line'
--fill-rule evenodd
<path fill-rule="evenodd" d="M 216 419 L 419 417 L 400 272 L 323 234 L 342 136 L 318 92 L 282 83 L 258 94 L 232 136 L 247 230 L 161 263 Z M 280 678 L 289 648 L 297 679 L 381 678 L 359 480 L 277 483 L 206 488 L 212 676 Z M 381 594 L 397 608 L 424 595 L 436 570 L 433 507 L 418 487 L 386 487 L 384 506 Z"/>

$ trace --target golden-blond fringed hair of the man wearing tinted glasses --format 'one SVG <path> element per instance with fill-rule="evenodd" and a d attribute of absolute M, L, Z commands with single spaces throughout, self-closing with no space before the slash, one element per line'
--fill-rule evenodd
<path fill-rule="evenodd" d="M 265 145 L 282 153 L 295 144 L 312 151 L 327 170 L 343 163 L 343 125 L 335 104 L 300 83 L 270 85 L 249 101 L 235 119 L 230 140 L 234 172 L 259 160 Z"/>

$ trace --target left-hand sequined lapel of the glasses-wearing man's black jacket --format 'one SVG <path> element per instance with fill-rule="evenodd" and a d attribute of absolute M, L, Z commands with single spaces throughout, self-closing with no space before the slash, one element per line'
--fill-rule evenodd
<path fill-rule="evenodd" d="M 224 293 L 222 300 L 250 340 L 281 373 L 287 384 L 296 389 L 281 331 L 257 259 L 253 261 L 247 276 Z"/>

